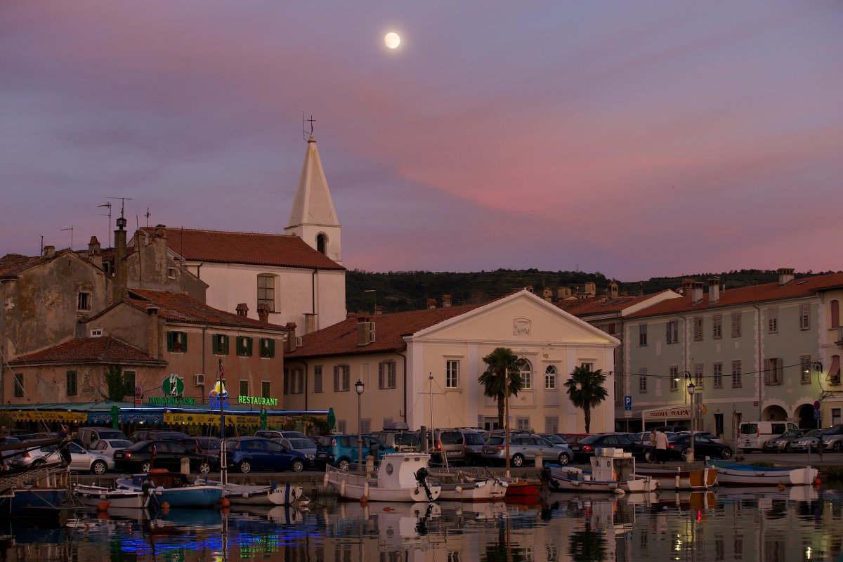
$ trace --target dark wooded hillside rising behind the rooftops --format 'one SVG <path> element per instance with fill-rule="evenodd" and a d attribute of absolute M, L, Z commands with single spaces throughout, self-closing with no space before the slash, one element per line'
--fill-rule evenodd
<path fill-rule="evenodd" d="M 821 272 L 825 273 L 825 272 Z M 831 273 L 829 271 L 828 273 Z M 815 275 L 813 272 L 797 273 L 797 277 Z M 819 275 L 819 274 L 816 274 Z M 683 279 L 706 281 L 720 277 L 727 288 L 770 283 L 778 279 L 776 270 L 732 270 L 721 273 L 699 273 L 689 276 L 652 277 L 647 281 L 618 281 L 620 294 L 639 295 L 677 289 Z M 432 271 L 390 271 L 371 273 L 362 270 L 346 272 L 346 306 L 351 311 L 373 311 L 376 305 L 384 313 L 424 308 L 427 298 L 435 298 L 438 306 L 443 295 L 451 295 L 454 305 L 467 302 L 485 302 L 501 297 L 513 290 L 532 286 L 541 294 L 550 288 L 556 300 L 556 290 L 571 287 L 582 290 L 586 281 L 594 281 L 597 293 L 607 291 L 610 279 L 602 273 L 584 271 L 495 270 L 475 273 L 437 273 Z"/>

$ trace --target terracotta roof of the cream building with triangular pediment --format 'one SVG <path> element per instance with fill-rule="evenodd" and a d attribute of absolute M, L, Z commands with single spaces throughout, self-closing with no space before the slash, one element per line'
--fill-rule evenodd
<path fill-rule="evenodd" d="M 346 318 L 333 326 L 304 335 L 301 347 L 292 353 L 285 354 L 285 358 L 296 359 L 299 357 L 383 353 L 384 351 L 402 350 L 405 347 L 402 336 L 415 334 L 421 329 L 429 328 L 448 320 L 448 318 L 454 318 L 485 304 L 488 303 L 373 315 L 371 321 L 375 324 L 375 341 L 362 346 L 357 345 L 357 317 Z"/>

